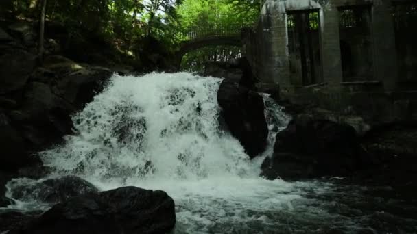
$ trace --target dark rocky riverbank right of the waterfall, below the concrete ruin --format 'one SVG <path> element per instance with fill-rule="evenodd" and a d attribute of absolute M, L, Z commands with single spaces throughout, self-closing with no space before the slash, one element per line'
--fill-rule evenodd
<path fill-rule="evenodd" d="M 259 111 L 255 110 L 257 103 L 242 105 L 242 102 L 235 101 L 230 105 L 234 92 L 240 92 L 240 96 L 244 96 L 240 100 L 250 100 L 250 96 L 257 95 L 256 92 L 270 92 L 275 100 L 285 107 L 288 114 L 293 116 L 287 128 L 276 135 L 274 153 L 263 161 L 261 176 L 289 181 L 345 177 L 348 178 L 345 181 L 349 181 L 346 183 L 353 184 L 392 185 L 403 188 L 416 185 L 416 125 L 391 122 L 369 126 L 364 122 L 354 121 L 355 118 L 351 116 L 333 122 L 329 120 L 329 116 L 325 116 L 327 112 L 322 109 L 294 105 L 287 100 L 279 99 L 276 90 L 260 88 L 262 85 L 256 83 L 256 79 L 252 78 L 255 83 L 246 86 L 237 77 L 251 76 L 244 76 L 243 73 L 251 72 L 250 69 L 248 71 L 247 68 L 241 68 L 239 62 L 211 63 L 206 69 L 206 75 L 221 75 L 226 78 L 218 94 L 219 104 L 223 108 L 222 120 L 228 112 L 235 114 L 226 121 L 226 126 L 232 126 L 239 131 L 255 131 L 262 128 L 252 126 L 264 124 L 261 118 L 252 120 L 256 123 L 244 119 L 246 109 L 252 109 L 252 116 L 263 111 L 261 107 L 258 108 Z M 230 131 L 233 133 L 233 129 Z M 245 148 L 248 148 L 265 144 L 265 138 L 259 135 L 263 131 L 258 131 L 260 132 L 248 133 L 251 140 L 239 137 L 239 133 L 233 134 L 246 146 Z"/>

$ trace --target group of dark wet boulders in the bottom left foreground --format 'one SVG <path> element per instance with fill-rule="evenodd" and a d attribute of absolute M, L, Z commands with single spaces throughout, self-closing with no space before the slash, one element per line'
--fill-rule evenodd
<path fill-rule="evenodd" d="M 8 233 L 166 233 L 175 224 L 174 200 L 163 191 L 119 187 L 99 192 L 78 177 L 19 183 L 12 197 L 51 206 L 43 212 L 0 211 Z"/>

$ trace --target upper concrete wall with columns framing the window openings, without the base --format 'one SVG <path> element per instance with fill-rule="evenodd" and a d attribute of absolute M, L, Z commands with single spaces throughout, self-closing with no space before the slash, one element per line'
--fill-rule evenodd
<path fill-rule="evenodd" d="M 286 12 L 314 9 L 320 11 L 320 49 L 323 64 L 322 77 L 318 80 L 332 86 L 340 85 L 343 78 L 338 8 L 349 5 L 371 6 L 370 51 L 373 74 L 372 79 L 368 80 L 381 81 L 386 89 L 394 90 L 398 71 L 390 0 L 266 1 L 257 29 L 248 35 L 250 38 L 247 54 L 257 68 L 255 70 L 258 77 L 264 82 L 279 83 L 281 87 L 290 86 Z"/>

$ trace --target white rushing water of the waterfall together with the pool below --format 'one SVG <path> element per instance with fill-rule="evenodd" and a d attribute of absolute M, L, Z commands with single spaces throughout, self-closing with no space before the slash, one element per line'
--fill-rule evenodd
<path fill-rule="evenodd" d="M 76 133 L 40 153 L 53 168 L 49 177 L 75 174 L 101 190 L 124 185 L 165 190 L 176 202 L 174 233 L 378 233 L 382 224 L 390 226 L 372 224 L 372 216 L 384 214 L 362 211 L 355 207 L 361 200 L 345 199 L 362 196 L 360 187 L 355 194 L 328 181 L 259 177 L 289 116 L 263 95 L 269 146 L 250 161 L 239 141 L 219 127 L 221 81 L 189 73 L 113 76 L 106 90 L 73 116 Z M 14 179 L 9 196 L 14 185 L 32 183 Z M 16 202 L 11 208 L 49 207 L 36 197 Z M 403 225 L 397 231 L 416 224 L 395 220 Z"/>

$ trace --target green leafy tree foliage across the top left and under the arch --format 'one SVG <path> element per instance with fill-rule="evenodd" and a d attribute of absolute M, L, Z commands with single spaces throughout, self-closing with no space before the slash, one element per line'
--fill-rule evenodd
<path fill-rule="evenodd" d="M 11 12 L 25 18 L 39 16 L 40 0 L 10 1 Z M 69 38 L 100 38 L 126 55 L 141 55 L 149 38 L 171 53 L 193 27 L 214 29 L 219 25 L 252 25 L 259 15 L 253 0 L 48 0 L 47 21 L 64 25 Z M 233 26 L 235 25 L 235 26 Z M 237 25 L 237 26 L 236 26 Z M 231 48 L 231 49 L 230 49 Z M 186 55 L 187 69 L 204 60 L 226 60 L 240 55 L 233 47 L 208 47 Z M 219 56 L 224 54 L 224 56 Z M 226 56 L 227 55 L 227 56 Z M 190 65 L 194 64 L 194 65 Z"/>

